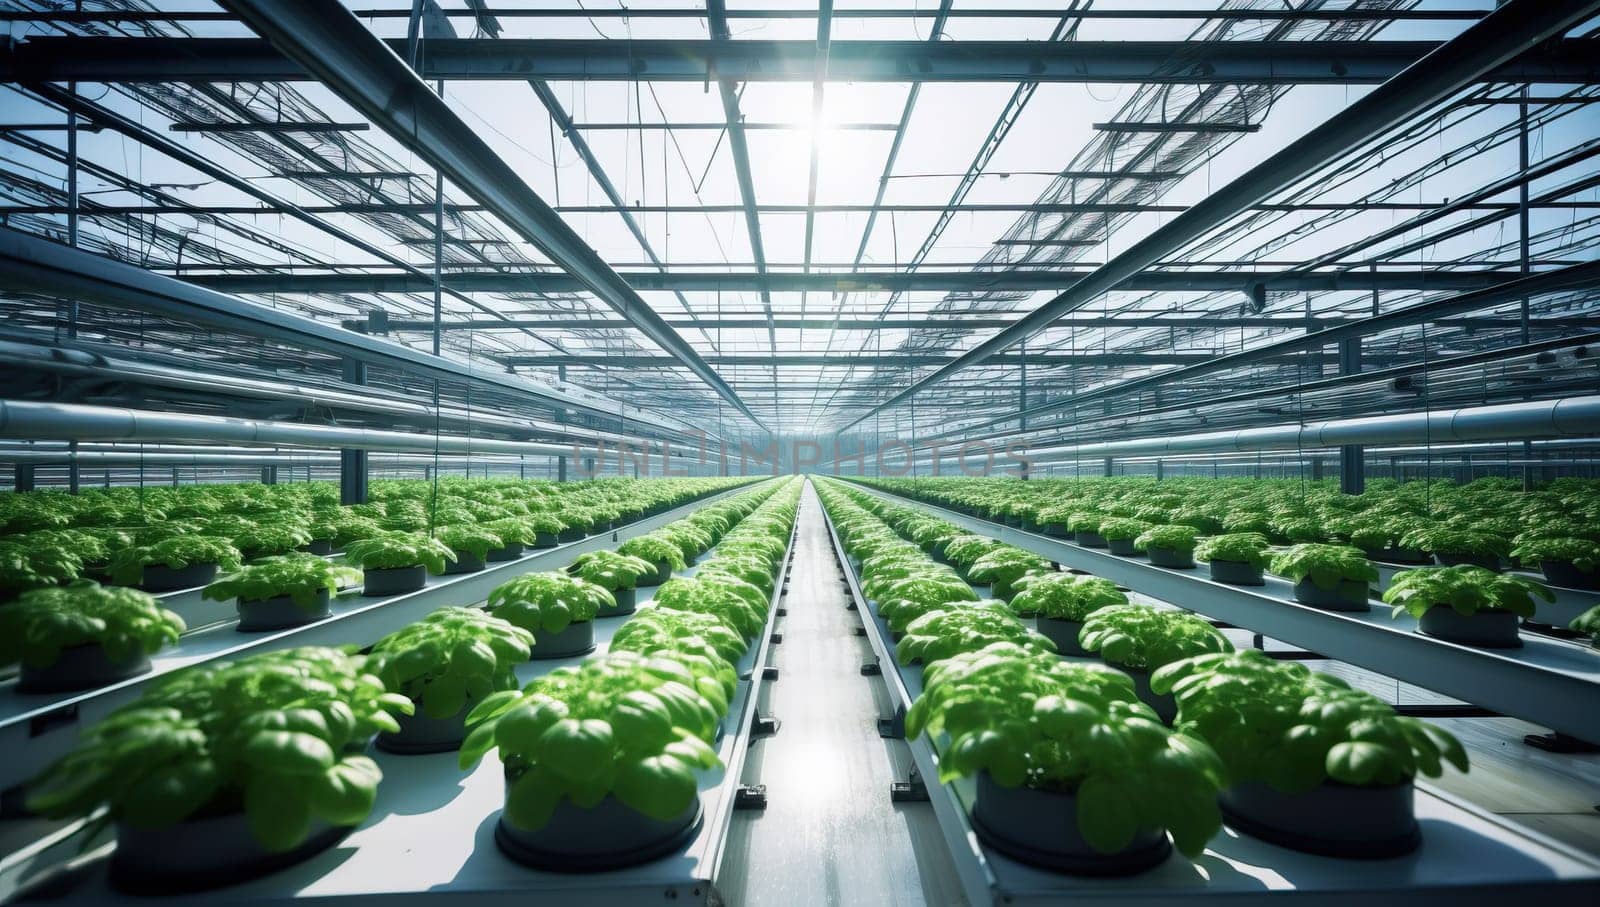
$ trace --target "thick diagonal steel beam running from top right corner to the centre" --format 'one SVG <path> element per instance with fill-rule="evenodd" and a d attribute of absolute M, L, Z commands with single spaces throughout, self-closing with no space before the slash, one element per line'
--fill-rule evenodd
<path fill-rule="evenodd" d="M 1157 227 L 1016 325 L 971 347 L 955 362 L 914 381 L 906 390 L 840 426 L 840 430 L 858 426 L 874 411 L 910 400 L 920 390 L 1016 346 L 1050 326 L 1061 315 L 1114 290 L 1128 277 L 1227 224 L 1251 205 L 1266 202 L 1398 123 L 1424 114 L 1483 75 L 1517 59 L 1528 48 L 1560 37 L 1597 10 L 1600 10 L 1600 0 L 1573 3 L 1514 0 L 1501 6 L 1403 74 L 1357 99 L 1222 189 Z M 1373 45 L 1368 42 L 1357 46 Z"/>

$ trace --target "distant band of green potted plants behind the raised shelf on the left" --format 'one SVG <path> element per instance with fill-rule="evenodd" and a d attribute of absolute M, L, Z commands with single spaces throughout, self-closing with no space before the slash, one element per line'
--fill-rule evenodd
<path fill-rule="evenodd" d="M 485 561 L 520 557 L 526 547 L 578 541 L 744 481 L 374 481 L 370 501 L 349 507 L 339 505 L 330 483 L 5 494 L 0 601 L 78 577 L 147 592 L 189 589 L 246 560 L 301 550 L 326 555 L 350 545 L 374 568 L 408 576 L 416 566 L 480 569 Z M 418 536 L 438 545 L 418 545 L 411 541 Z M 418 550 L 408 553 L 408 547 Z"/>

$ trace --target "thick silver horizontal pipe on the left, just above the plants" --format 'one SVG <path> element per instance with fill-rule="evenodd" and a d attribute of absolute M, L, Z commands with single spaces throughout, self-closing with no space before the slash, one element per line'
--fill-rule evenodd
<path fill-rule="evenodd" d="M 318 450 L 366 450 L 446 454 L 510 454 L 510 456 L 578 456 L 603 459 L 605 451 L 578 445 L 539 442 L 506 442 L 461 435 L 426 435 L 384 432 L 341 426 L 304 426 L 198 416 L 190 413 L 157 413 L 123 406 L 85 406 L 77 403 L 38 403 L 0 400 L 0 438 L 58 442 L 230 442 L 242 445 L 307 446 Z M 672 448 L 672 456 L 688 461 L 699 451 Z"/>

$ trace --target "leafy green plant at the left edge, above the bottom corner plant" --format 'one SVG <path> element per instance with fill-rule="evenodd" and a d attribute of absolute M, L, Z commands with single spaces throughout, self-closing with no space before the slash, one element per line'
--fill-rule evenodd
<path fill-rule="evenodd" d="M 0 606 L 0 665 L 50 667 L 62 649 L 98 645 L 114 662 L 178 643 L 184 621 L 138 589 L 88 579 L 24 592 Z"/>

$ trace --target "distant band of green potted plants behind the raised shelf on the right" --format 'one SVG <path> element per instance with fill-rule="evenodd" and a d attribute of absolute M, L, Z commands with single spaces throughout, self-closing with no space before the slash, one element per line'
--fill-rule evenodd
<path fill-rule="evenodd" d="M 1592 480 L 1562 478 L 1533 491 L 1501 478 L 1376 480 L 1363 494 L 1290 480 L 859 481 L 1078 544 L 1109 544 L 1123 555 L 1149 547 L 1158 560 L 1181 555 L 1186 529 L 1173 526 L 1187 526 L 1200 537 L 1258 533 L 1272 545 L 1350 545 L 1389 563 L 1522 566 L 1544 571 L 1555 585 L 1600 589 L 1600 483 Z"/>

